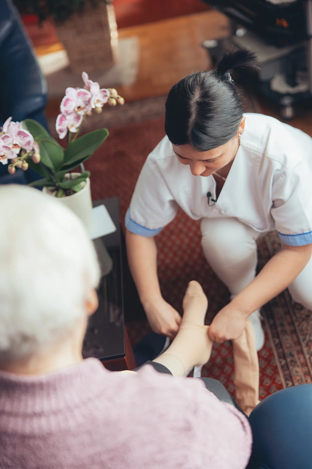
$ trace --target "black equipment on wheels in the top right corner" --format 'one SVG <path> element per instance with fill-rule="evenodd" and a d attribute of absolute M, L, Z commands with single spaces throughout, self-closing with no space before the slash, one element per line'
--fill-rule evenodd
<path fill-rule="evenodd" d="M 222 50 L 246 46 L 259 59 L 248 80 L 291 119 L 294 106 L 312 104 L 312 0 L 204 0 L 231 20 L 231 35 L 204 41 L 215 62 Z"/>

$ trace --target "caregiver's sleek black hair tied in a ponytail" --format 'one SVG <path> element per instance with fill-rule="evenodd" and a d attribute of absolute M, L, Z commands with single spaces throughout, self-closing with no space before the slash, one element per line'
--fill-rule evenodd
<path fill-rule="evenodd" d="M 216 70 L 195 72 L 176 83 L 166 101 L 170 142 L 207 151 L 231 140 L 243 109 L 229 70 L 256 68 L 255 63 L 255 54 L 247 49 L 225 52 Z"/>

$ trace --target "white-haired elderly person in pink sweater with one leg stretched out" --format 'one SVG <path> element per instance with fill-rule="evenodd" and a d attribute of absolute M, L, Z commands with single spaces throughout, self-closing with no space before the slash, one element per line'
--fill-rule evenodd
<path fill-rule="evenodd" d="M 98 305 L 92 242 L 35 189 L 4 186 L 0 199 L 0 467 L 245 468 L 250 427 L 226 392 L 229 403 L 200 379 L 151 366 L 112 373 L 82 359 Z M 183 306 L 179 333 L 152 363 L 177 377 L 211 351 L 196 282 Z"/>

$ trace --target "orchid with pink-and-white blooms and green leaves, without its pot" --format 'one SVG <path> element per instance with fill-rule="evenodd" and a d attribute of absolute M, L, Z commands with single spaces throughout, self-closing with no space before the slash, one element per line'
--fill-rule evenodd
<path fill-rule="evenodd" d="M 99 83 L 89 80 L 86 72 L 82 79 L 84 88 L 66 89 L 56 120 L 59 138 L 67 136 L 66 148 L 32 119 L 13 122 L 9 117 L 0 132 L 0 162 L 5 165 L 10 160 L 8 172 L 14 174 L 16 167 L 24 171 L 31 167 L 42 179 L 30 185 L 47 187 L 57 197 L 70 196 L 84 187 L 89 171 L 77 177 L 70 172 L 90 158 L 109 135 L 107 129 L 98 129 L 78 138 L 86 116 L 93 111 L 101 113 L 105 104 L 124 104 L 115 89 L 100 89 Z"/>

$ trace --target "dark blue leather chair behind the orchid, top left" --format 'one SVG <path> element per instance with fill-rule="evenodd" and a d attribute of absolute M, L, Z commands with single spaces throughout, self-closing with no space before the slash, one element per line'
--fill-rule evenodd
<path fill-rule="evenodd" d="M 13 121 L 29 118 L 46 129 L 44 107 L 47 85 L 11 0 L 0 1 L 0 126 L 10 116 Z M 7 173 L 0 164 L 0 184 L 27 184 L 40 179 L 32 170 Z"/>

